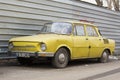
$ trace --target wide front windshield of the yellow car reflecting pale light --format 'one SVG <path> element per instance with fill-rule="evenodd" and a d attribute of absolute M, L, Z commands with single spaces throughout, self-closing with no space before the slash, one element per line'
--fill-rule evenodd
<path fill-rule="evenodd" d="M 47 23 L 44 25 L 41 33 L 71 34 L 72 24 L 70 23 Z"/>

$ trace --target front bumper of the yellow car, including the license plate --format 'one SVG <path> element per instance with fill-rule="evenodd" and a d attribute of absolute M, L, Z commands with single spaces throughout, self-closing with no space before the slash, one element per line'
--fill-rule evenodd
<path fill-rule="evenodd" d="M 52 52 L 10 52 L 17 57 L 54 57 Z"/>

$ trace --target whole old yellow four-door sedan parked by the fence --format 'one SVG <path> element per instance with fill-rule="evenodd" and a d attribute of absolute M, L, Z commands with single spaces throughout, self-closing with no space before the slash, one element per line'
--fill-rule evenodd
<path fill-rule="evenodd" d="M 46 58 L 56 68 L 64 68 L 75 59 L 95 58 L 107 62 L 114 53 L 115 41 L 103 38 L 89 22 L 46 23 L 37 35 L 12 38 L 9 51 L 21 64 Z"/>

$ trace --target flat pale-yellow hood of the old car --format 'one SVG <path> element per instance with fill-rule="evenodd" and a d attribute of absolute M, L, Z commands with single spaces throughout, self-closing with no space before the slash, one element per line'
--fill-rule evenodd
<path fill-rule="evenodd" d="M 33 36 L 12 38 L 10 40 L 10 42 L 12 42 L 12 41 L 44 42 L 44 41 L 48 41 L 48 40 L 60 39 L 60 37 L 63 37 L 63 35 L 58 35 L 58 34 L 39 34 L 39 35 L 33 35 Z"/>

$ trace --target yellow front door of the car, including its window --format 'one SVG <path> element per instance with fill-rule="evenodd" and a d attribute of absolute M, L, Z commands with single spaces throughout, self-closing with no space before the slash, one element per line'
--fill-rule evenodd
<path fill-rule="evenodd" d="M 74 47 L 73 47 L 73 57 L 74 58 L 86 58 L 89 53 L 89 41 L 86 36 L 84 25 L 74 26 Z"/>

